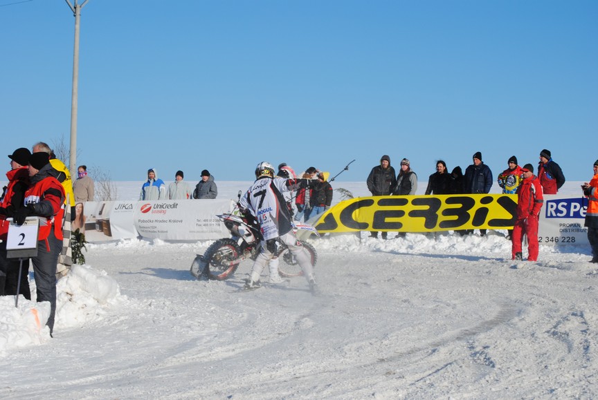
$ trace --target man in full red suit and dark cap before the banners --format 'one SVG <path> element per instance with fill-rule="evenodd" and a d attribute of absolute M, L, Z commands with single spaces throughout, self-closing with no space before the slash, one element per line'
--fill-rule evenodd
<path fill-rule="evenodd" d="M 523 260 L 521 242 L 527 234 L 527 260 L 538 260 L 538 218 L 544 203 L 540 180 L 534 175 L 534 166 L 525 164 L 522 168 L 523 182 L 517 189 L 517 220 L 513 227 L 513 260 Z"/>

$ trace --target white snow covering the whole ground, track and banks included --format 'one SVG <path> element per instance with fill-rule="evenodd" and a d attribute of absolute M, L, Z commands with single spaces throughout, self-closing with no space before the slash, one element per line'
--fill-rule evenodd
<path fill-rule="evenodd" d="M 246 183 L 219 182 L 221 196 Z M 89 245 L 58 283 L 53 339 L 35 322 L 46 303 L 0 298 L 0 398 L 598 396 L 589 248 L 541 246 L 538 263 L 514 263 L 504 231 L 312 243 L 317 297 L 304 278 L 239 291 L 251 262 L 195 280 L 209 242 Z"/>

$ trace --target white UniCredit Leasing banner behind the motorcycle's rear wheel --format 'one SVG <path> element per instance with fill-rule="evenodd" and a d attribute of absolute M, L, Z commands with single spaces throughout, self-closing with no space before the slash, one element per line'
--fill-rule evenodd
<path fill-rule="evenodd" d="M 216 216 L 230 213 L 233 200 L 158 200 L 137 202 L 134 225 L 144 238 L 210 240 L 230 236 Z"/>

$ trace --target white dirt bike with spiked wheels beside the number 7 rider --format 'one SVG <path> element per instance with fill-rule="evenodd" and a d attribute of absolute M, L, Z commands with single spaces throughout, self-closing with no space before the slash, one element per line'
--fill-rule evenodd
<path fill-rule="evenodd" d="M 216 240 L 204 254 L 197 254 L 190 270 L 195 278 L 228 279 L 235 273 L 242 261 L 247 259 L 255 260 L 257 254 L 260 253 L 262 236 L 257 222 L 252 223 L 247 218 L 233 213 L 219 214 L 217 217 L 224 222 L 233 237 Z M 311 225 L 296 222 L 293 231 L 298 230 L 310 231 L 311 234 L 320 236 L 318 231 Z M 316 249 L 304 240 L 298 241 L 309 253 L 311 265 L 315 267 L 318 261 Z M 282 242 L 278 242 L 278 258 L 280 260 L 278 274 L 283 278 L 303 274 L 295 256 L 293 256 L 287 245 Z"/>

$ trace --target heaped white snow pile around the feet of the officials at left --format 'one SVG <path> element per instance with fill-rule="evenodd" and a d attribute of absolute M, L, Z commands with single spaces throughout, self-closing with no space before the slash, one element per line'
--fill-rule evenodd
<path fill-rule="evenodd" d="M 0 352 L 50 339 L 46 327 L 50 303 L 35 301 L 33 278 L 30 286 L 32 301 L 23 296 L 19 296 L 18 303 L 15 296 L 0 297 Z M 87 265 L 73 265 L 71 272 L 58 281 L 56 292 L 55 326 L 61 329 L 100 321 L 111 305 L 126 299 L 114 278 Z"/>

